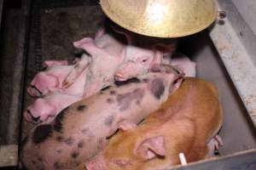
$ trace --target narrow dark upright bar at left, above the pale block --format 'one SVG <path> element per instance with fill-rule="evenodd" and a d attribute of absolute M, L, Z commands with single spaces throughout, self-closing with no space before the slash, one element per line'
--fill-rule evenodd
<path fill-rule="evenodd" d="M 19 41 L 19 53 L 15 59 L 15 75 L 13 77 L 14 82 L 18 83 L 15 86 L 14 93 L 12 95 L 12 104 L 9 112 L 9 126 L 7 129 L 7 143 L 18 144 L 19 143 L 19 131 L 20 131 L 20 114 L 21 114 L 21 98 L 23 91 L 24 72 L 25 72 L 25 58 L 26 58 L 26 43 L 27 43 L 27 27 L 29 24 L 28 17 L 30 17 L 31 0 L 22 1 L 21 10 L 23 12 L 23 20 L 20 26 Z"/>

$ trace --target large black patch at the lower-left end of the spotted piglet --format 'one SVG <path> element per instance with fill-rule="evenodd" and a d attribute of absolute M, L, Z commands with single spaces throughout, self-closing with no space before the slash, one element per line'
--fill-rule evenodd
<path fill-rule="evenodd" d="M 51 137 L 53 133 L 52 127 L 50 124 L 44 124 L 36 127 L 33 135 L 32 135 L 32 142 L 34 144 L 39 144 L 44 142 L 45 139 Z"/>

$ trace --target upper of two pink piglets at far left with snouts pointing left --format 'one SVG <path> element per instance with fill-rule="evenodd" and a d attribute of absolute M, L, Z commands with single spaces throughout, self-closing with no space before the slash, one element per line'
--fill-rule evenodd
<path fill-rule="evenodd" d="M 90 59 L 82 55 L 82 58 Z M 87 64 L 90 62 L 88 60 Z M 31 96 L 44 96 L 55 90 L 62 90 L 63 93 L 71 95 L 81 95 L 84 90 L 84 82 L 86 70 L 81 72 L 79 78 L 74 81 L 73 86 L 69 88 L 62 88 L 62 82 L 67 74 L 73 70 L 74 65 L 67 65 L 67 60 L 48 60 L 43 64 L 46 67 L 45 71 L 40 71 L 32 79 L 30 86 L 27 88 L 27 93 Z M 87 65 L 86 65 L 87 66 Z"/>

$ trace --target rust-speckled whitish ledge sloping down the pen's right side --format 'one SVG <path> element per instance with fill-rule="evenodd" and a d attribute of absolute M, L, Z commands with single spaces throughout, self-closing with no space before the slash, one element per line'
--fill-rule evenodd
<path fill-rule="evenodd" d="M 227 15 L 216 22 L 210 36 L 256 126 L 256 66 L 253 62 L 255 56 L 250 55 L 236 29 L 230 24 L 230 17 L 233 15 L 229 8 L 223 8 L 218 4 L 218 10 L 226 10 Z"/>

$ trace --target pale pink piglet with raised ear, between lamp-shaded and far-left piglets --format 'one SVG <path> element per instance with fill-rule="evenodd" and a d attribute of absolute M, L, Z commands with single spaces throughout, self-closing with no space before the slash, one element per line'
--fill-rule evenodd
<path fill-rule="evenodd" d="M 90 54 L 91 63 L 86 75 L 84 85 L 84 98 L 98 92 L 101 88 L 107 87 L 113 82 L 113 73 L 118 65 L 123 61 L 125 41 L 108 33 L 102 27 L 96 32 L 96 37 L 84 37 L 78 42 L 73 42 L 74 47 L 81 48 Z M 63 88 L 69 88 L 75 82 L 82 71 L 87 66 L 87 58 L 82 57 L 69 71 L 67 77 L 62 82 Z M 92 78 L 93 77 L 93 78 Z"/>

